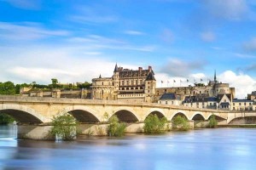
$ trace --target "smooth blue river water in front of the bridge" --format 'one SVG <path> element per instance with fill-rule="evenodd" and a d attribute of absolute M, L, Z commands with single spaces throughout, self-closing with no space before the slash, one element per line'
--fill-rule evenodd
<path fill-rule="evenodd" d="M 17 140 L 0 127 L 0 169 L 256 169 L 256 129 L 217 128 L 72 142 Z"/>

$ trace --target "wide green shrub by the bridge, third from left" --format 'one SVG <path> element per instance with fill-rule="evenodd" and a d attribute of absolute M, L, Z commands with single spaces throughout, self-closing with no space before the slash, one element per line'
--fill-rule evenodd
<path fill-rule="evenodd" d="M 166 130 L 166 117 L 149 115 L 144 121 L 144 133 L 163 133 Z"/>

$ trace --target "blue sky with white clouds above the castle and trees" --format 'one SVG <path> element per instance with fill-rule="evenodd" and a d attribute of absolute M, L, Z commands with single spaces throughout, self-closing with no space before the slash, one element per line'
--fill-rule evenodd
<path fill-rule="evenodd" d="M 0 0 L 0 82 L 91 82 L 116 63 L 151 65 L 159 88 L 216 71 L 244 99 L 256 90 L 255 30 L 256 0 Z"/>

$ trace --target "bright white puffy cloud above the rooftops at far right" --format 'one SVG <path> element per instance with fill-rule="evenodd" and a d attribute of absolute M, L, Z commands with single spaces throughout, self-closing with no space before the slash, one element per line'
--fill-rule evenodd
<path fill-rule="evenodd" d="M 252 91 L 256 90 L 256 81 L 253 77 L 243 73 L 236 74 L 233 71 L 224 71 L 218 75 L 218 80 L 220 82 L 228 82 L 230 87 L 235 87 L 236 98 L 239 99 L 244 99 L 247 94 L 251 94 Z"/>

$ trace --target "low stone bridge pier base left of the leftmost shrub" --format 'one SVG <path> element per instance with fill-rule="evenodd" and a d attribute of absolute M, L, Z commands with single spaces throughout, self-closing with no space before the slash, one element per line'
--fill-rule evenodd
<path fill-rule="evenodd" d="M 49 130 L 51 127 L 52 126 L 46 124 L 20 124 L 17 127 L 17 139 L 53 139 L 49 136 Z"/>

